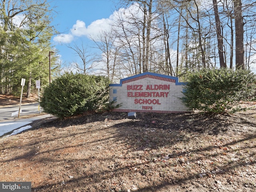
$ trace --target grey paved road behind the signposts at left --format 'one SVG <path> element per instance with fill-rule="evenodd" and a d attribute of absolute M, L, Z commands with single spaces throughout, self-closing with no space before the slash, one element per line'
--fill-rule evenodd
<path fill-rule="evenodd" d="M 38 103 L 23 104 L 21 105 L 20 109 L 22 110 L 22 112 L 20 113 L 20 116 L 38 114 Z M 14 116 L 12 116 L 12 114 L 15 112 L 18 112 L 18 110 L 19 110 L 19 105 L 1 107 L 0 120 L 17 118 L 18 113 L 15 114 Z"/>

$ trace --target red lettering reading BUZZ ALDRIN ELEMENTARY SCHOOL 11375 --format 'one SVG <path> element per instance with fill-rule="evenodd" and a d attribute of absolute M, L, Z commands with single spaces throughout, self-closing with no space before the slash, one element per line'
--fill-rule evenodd
<path fill-rule="evenodd" d="M 135 97 L 134 104 L 142 105 L 160 105 L 159 99 L 168 97 L 169 92 L 160 90 L 170 90 L 170 84 L 160 84 L 160 85 L 147 85 L 145 86 L 146 91 L 143 90 L 143 85 L 127 85 L 127 97 Z M 151 91 L 152 90 L 152 91 Z M 138 98 L 139 97 L 139 98 Z M 147 99 L 142 99 L 142 97 Z M 154 97 L 149 99 L 148 97 Z M 152 110 L 152 106 L 142 106 L 142 109 Z"/>

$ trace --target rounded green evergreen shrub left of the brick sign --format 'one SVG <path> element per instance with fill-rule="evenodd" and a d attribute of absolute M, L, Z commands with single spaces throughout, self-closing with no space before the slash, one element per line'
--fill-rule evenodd
<path fill-rule="evenodd" d="M 40 105 L 60 118 L 108 108 L 109 80 L 104 76 L 66 73 L 44 89 Z"/>

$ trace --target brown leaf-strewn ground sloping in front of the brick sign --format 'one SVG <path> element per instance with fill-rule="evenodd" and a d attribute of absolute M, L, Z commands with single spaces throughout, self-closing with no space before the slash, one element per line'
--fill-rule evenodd
<path fill-rule="evenodd" d="M 31 126 L 0 138 L 0 181 L 32 182 L 32 192 L 256 191 L 256 109 L 135 120 L 108 112 Z"/>

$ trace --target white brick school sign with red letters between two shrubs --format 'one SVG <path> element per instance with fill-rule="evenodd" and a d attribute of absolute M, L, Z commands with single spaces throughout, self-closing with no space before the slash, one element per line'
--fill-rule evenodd
<path fill-rule="evenodd" d="M 177 77 L 145 72 L 110 84 L 110 101 L 121 105 L 116 112 L 188 112 L 179 99 L 184 85 Z"/>

